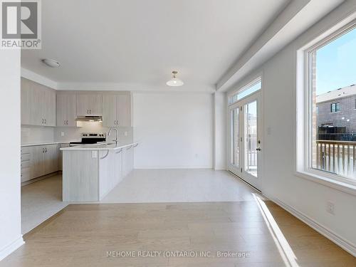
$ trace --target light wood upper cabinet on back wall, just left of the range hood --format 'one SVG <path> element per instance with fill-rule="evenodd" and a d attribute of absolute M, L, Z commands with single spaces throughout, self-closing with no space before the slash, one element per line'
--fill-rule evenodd
<path fill-rule="evenodd" d="M 77 96 L 74 94 L 57 95 L 57 126 L 75 127 L 77 122 Z"/>

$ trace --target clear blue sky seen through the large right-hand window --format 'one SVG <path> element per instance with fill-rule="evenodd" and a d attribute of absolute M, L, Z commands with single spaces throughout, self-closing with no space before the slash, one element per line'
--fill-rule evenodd
<path fill-rule="evenodd" d="M 316 94 L 356 84 L 356 28 L 316 53 Z"/>

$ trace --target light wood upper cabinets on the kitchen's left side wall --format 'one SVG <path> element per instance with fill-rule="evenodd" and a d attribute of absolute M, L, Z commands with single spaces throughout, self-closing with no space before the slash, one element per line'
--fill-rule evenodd
<path fill-rule="evenodd" d="M 56 126 L 56 90 L 21 78 L 21 124 Z"/>

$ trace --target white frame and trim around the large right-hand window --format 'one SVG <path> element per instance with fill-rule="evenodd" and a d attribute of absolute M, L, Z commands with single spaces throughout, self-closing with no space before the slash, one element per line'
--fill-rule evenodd
<path fill-rule="evenodd" d="M 356 14 L 353 14 L 297 51 L 295 174 L 298 177 L 356 195 L 355 179 L 313 168 L 311 142 L 313 138 L 313 52 L 355 28 Z"/>

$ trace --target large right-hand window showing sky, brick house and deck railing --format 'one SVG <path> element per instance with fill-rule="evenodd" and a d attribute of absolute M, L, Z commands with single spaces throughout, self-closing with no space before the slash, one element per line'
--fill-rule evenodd
<path fill-rule="evenodd" d="M 356 184 L 356 21 L 305 55 L 304 169 Z"/>

